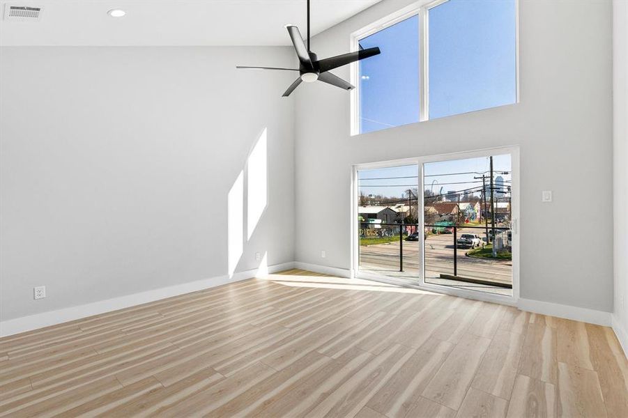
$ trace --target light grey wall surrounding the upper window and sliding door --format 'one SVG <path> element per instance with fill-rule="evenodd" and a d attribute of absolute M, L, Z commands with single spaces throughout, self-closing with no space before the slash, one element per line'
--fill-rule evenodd
<path fill-rule="evenodd" d="M 408 3 L 378 3 L 312 49 L 342 53 L 353 31 Z M 351 137 L 346 92 L 299 87 L 297 261 L 351 268 L 351 164 L 519 144 L 521 297 L 612 311 L 611 3 L 521 1 L 519 16 L 519 104 Z"/>

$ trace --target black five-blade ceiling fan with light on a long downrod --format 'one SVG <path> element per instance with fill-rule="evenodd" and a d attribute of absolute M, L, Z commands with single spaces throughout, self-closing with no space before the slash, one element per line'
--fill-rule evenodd
<path fill-rule="evenodd" d="M 362 49 L 359 51 L 349 52 L 349 54 L 342 54 L 332 56 L 330 58 L 319 60 L 314 52 L 309 50 L 309 0 L 307 0 L 307 47 L 303 42 L 301 33 L 298 27 L 291 24 L 286 25 L 288 33 L 294 45 L 294 49 L 299 59 L 299 68 L 278 68 L 278 67 L 247 67 L 243 65 L 237 65 L 236 68 L 247 68 L 254 70 L 284 70 L 284 71 L 298 71 L 299 78 L 296 79 L 284 92 L 283 97 L 288 97 L 290 93 L 298 87 L 301 82 L 312 83 L 319 80 L 321 82 L 332 84 L 344 90 L 351 90 L 354 88 L 350 83 L 344 81 L 344 79 L 333 75 L 329 70 L 342 67 L 361 59 L 369 58 L 370 56 L 380 54 L 378 47 Z"/>

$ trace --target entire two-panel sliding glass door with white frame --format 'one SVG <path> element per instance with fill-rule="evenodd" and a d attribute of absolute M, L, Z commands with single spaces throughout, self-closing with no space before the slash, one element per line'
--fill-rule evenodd
<path fill-rule="evenodd" d="M 358 275 L 516 296 L 512 153 L 516 148 L 357 167 Z"/>

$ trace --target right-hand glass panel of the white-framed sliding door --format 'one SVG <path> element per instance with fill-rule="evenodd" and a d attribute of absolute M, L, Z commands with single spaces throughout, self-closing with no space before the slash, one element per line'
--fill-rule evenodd
<path fill-rule="evenodd" d="M 510 154 L 423 164 L 425 284 L 512 296 Z"/>

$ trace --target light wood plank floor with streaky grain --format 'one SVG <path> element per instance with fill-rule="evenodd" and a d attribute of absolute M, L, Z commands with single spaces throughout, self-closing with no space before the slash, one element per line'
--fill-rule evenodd
<path fill-rule="evenodd" d="M 628 417 L 607 327 L 300 270 L 0 340 L 0 415 Z"/>

